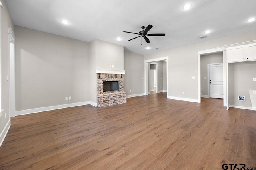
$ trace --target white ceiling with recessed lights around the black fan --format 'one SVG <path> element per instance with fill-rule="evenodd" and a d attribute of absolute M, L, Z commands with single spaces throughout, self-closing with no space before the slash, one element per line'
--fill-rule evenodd
<path fill-rule="evenodd" d="M 5 0 L 14 25 L 90 42 L 100 39 L 148 54 L 256 29 L 256 0 Z M 182 7 L 191 3 L 192 8 Z M 63 25 L 60 20 L 68 20 Z M 165 37 L 127 41 L 141 26 Z M 211 30 L 208 38 L 204 31 Z M 121 37 L 121 41 L 116 38 Z M 141 45 L 142 42 L 142 45 Z M 151 49 L 147 50 L 146 47 Z M 155 50 L 154 48 L 159 48 Z"/>

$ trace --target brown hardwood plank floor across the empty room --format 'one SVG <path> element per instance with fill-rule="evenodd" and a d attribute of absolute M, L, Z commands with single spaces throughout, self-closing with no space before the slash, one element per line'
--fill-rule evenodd
<path fill-rule="evenodd" d="M 128 98 L 17 116 L 0 147 L 0 169 L 221 170 L 256 167 L 256 111 L 166 98 Z"/>

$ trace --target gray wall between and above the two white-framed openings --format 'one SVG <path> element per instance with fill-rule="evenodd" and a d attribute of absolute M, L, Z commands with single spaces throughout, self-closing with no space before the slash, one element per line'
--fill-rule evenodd
<path fill-rule="evenodd" d="M 223 47 L 224 45 L 252 41 L 256 30 L 202 43 L 187 45 L 166 51 L 144 55 L 144 59 L 168 57 L 168 96 L 198 99 L 197 51 Z M 195 76 L 196 79 L 191 79 Z M 183 95 L 182 92 L 185 92 Z"/>

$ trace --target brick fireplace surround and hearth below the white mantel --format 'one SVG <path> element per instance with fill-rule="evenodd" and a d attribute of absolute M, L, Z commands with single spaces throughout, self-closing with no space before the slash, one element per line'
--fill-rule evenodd
<path fill-rule="evenodd" d="M 118 81 L 118 91 L 103 91 L 103 82 Z M 124 92 L 124 74 L 97 73 L 97 106 L 106 107 L 126 103 Z"/>

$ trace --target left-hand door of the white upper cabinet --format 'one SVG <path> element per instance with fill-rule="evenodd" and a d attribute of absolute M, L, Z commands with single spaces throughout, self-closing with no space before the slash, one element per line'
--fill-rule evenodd
<path fill-rule="evenodd" d="M 246 45 L 227 48 L 227 62 L 238 61 L 246 61 Z"/>

